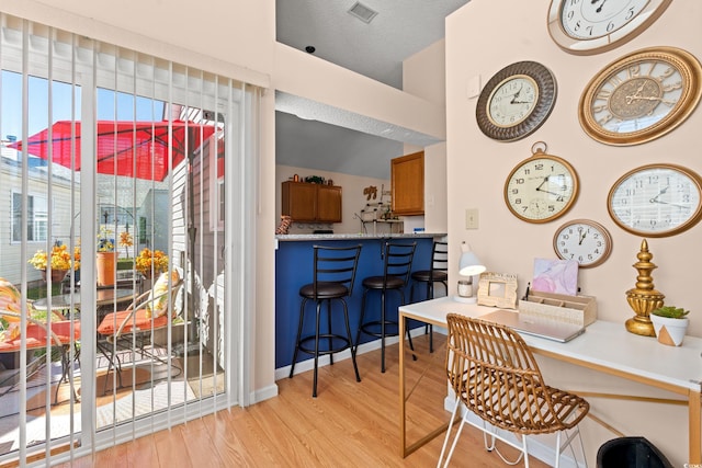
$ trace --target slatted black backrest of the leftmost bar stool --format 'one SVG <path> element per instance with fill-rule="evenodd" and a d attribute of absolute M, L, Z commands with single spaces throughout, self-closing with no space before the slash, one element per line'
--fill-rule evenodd
<path fill-rule="evenodd" d="M 320 284 L 331 283 L 344 286 L 348 290 L 346 296 L 351 296 L 361 247 L 361 244 L 353 247 L 314 246 L 313 290 L 315 297 L 319 297 L 317 292 Z"/>

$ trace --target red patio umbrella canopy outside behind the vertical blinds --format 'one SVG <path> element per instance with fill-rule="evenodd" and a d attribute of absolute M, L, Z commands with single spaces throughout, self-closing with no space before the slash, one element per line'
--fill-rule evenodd
<path fill-rule="evenodd" d="M 75 145 L 72 127 L 75 126 Z M 169 129 L 172 133 L 169 135 Z M 81 167 L 81 123 L 59 121 L 27 139 L 27 152 L 48 159 L 66 168 L 71 167 L 72 148 L 76 151 L 76 170 Z M 194 122 L 129 122 L 99 121 L 97 124 L 97 170 L 101 174 L 126 175 L 145 180 L 162 181 L 168 174 L 169 146 L 172 150 L 173 167 L 189 152 L 200 147 L 216 128 Z M 189 146 L 189 148 L 185 147 Z M 11 145 L 22 150 L 22 141 Z M 136 162 L 135 159 L 136 158 Z M 116 160 L 116 165 L 115 165 Z"/>

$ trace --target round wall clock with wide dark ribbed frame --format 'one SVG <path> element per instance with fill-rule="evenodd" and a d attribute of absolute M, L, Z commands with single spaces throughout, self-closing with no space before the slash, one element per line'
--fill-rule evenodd
<path fill-rule="evenodd" d="M 498 141 L 514 141 L 535 132 L 556 101 L 553 73 L 535 61 L 518 61 L 495 73 L 478 98 L 480 130 Z"/>

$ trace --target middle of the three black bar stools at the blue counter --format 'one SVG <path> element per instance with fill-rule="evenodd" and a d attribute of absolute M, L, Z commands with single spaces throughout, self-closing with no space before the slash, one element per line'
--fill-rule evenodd
<path fill-rule="evenodd" d="M 361 339 L 361 332 L 376 336 L 381 339 L 381 372 L 385 372 L 385 338 L 397 336 L 399 331 L 397 320 L 389 320 L 385 311 L 385 294 L 388 290 L 395 290 L 400 296 L 400 305 L 405 304 L 405 286 L 409 282 L 409 273 L 412 267 L 412 258 L 415 256 L 415 249 L 417 242 L 412 243 L 399 243 L 399 242 L 385 242 L 383 249 L 384 266 L 383 276 L 369 276 L 363 279 L 363 301 L 361 305 L 361 324 L 359 326 L 359 332 L 355 336 L 355 345 L 358 347 Z M 365 318 L 365 299 L 367 294 L 372 290 L 381 293 L 381 319 L 370 322 L 364 322 Z M 396 330 L 387 331 L 387 326 L 395 327 Z M 378 330 L 380 328 L 380 330 Z M 409 347 L 414 351 L 412 339 L 407 330 L 409 336 Z"/>

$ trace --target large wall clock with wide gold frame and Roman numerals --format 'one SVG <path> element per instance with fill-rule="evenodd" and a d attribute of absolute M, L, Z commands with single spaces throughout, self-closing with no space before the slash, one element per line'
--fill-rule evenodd
<path fill-rule="evenodd" d="M 608 65 L 586 87 L 580 125 L 598 141 L 636 145 L 658 138 L 692 113 L 702 95 L 702 66 L 673 47 L 636 50 Z"/>

